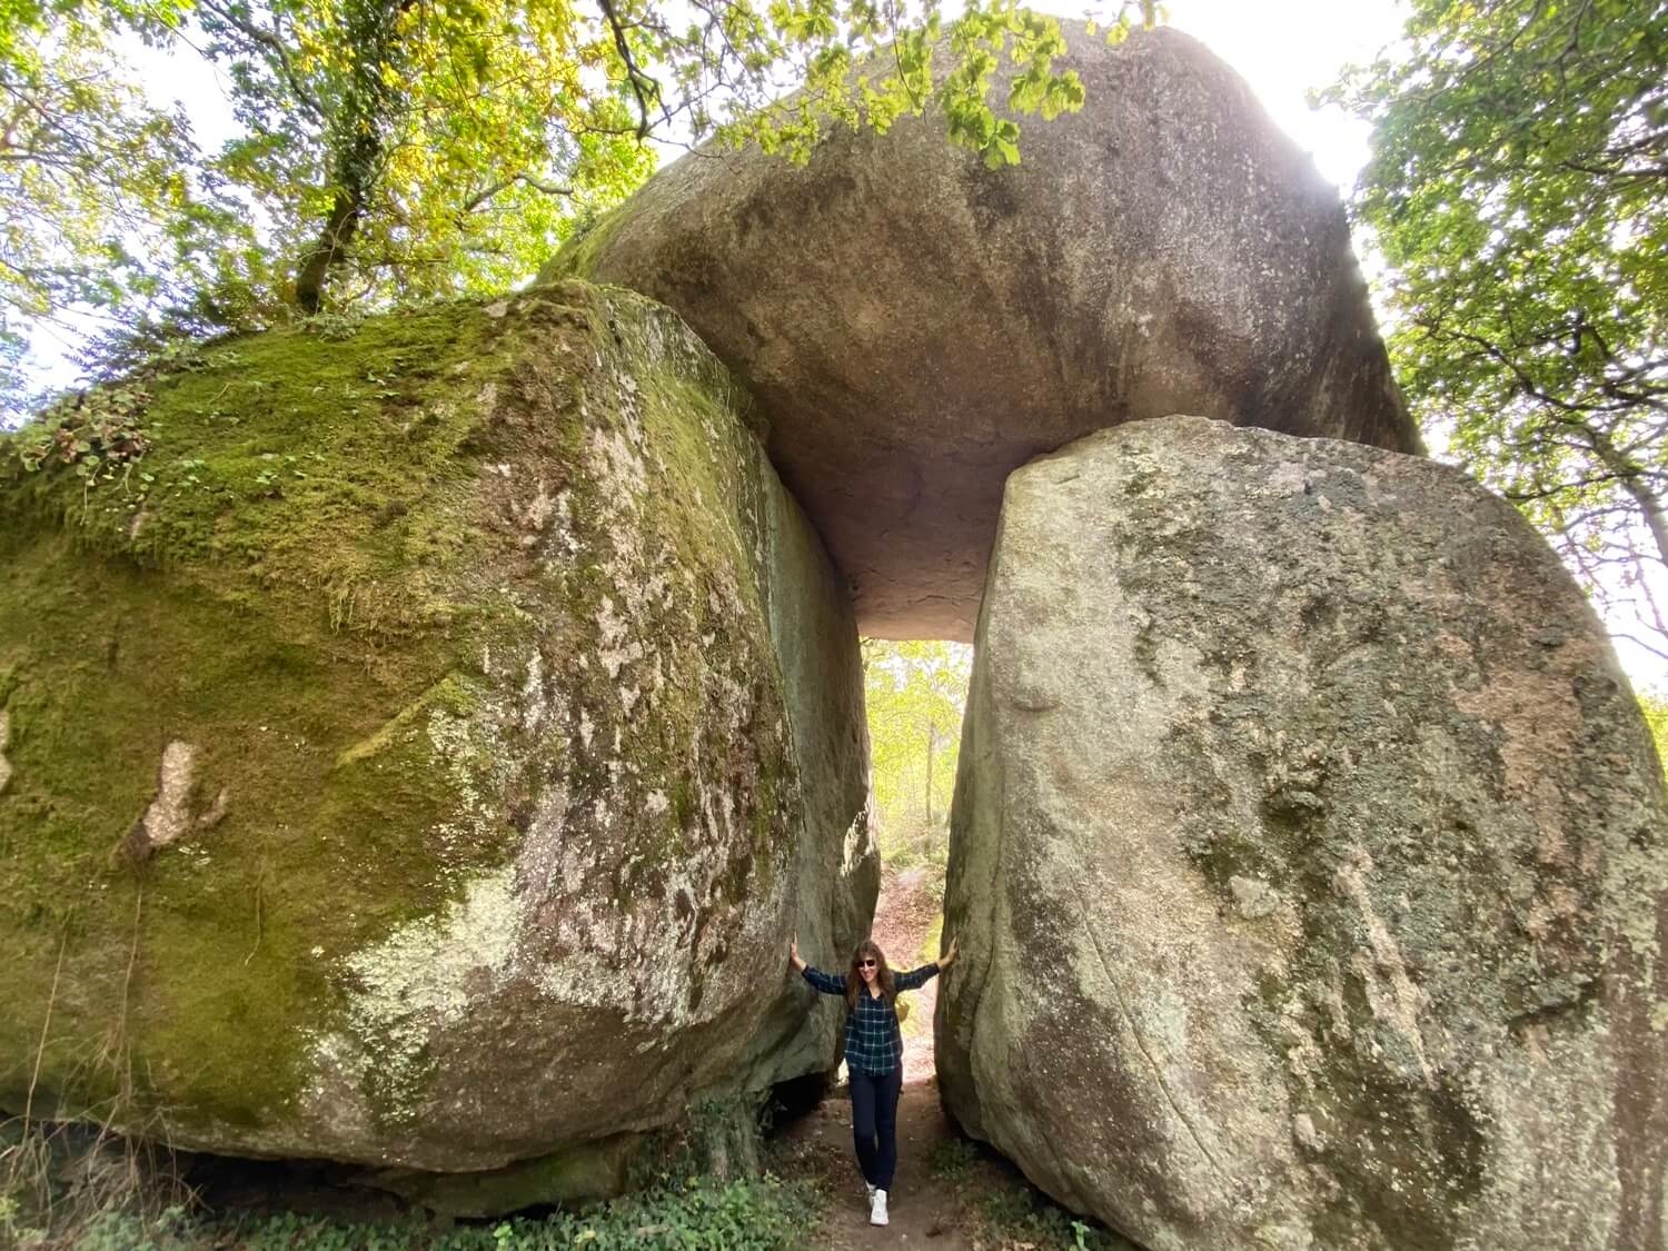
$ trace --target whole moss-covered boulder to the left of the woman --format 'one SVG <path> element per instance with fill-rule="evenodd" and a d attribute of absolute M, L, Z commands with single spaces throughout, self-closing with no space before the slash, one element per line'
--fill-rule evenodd
<path fill-rule="evenodd" d="M 831 1066 L 784 952 L 872 911 L 854 622 L 676 315 L 147 385 L 113 480 L 0 445 L 0 1108 L 529 1201 Z"/>

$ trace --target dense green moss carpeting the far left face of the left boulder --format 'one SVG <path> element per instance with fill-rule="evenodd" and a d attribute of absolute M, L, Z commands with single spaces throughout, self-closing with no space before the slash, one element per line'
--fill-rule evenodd
<path fill-rule="evenodd" d="M 0 974 L 28 1004 L 0 1027 L 5 1103 L 32 1068 L 63 916 L 63 982 L 87 1001 L 55 1004 L 52 1094 L 97 1104 L 132 1061 L 170 1114 L 235 1123 L 294 1098 L 305 1026 L 339 997 L 312 952 L 440 902 L 410 831 L 454 796 L 415 764 L 372 796 L 339 757 L 387 741 L 459 662 L 437 624 L 455 617 L 444 570 L 479 532 L 460 449 L 510 347 L 454 307 L 350 342 L 212 349 L 152 387 L 135 472 L 85 494 L 0 447 L 17 769 L 0 929 L 37 956 Z M 193 809 L 225 789 L 227 814 L 135 877 L 112 852 L 173 739 L 197 747 Z M 122 1054 L 87 1064 L 88 1037 Z"/>

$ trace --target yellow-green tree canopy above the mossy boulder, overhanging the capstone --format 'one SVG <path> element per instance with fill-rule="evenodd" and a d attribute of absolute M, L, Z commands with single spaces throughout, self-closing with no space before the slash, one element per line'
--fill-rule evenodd
<path fill-rule="evenodd" d="M 1123 0 L 1108 37 L 1156 18 Z M 212 62 L 235 137 L 198 148 L 137 42 Z M 937 105 L 1016 162 L 992 103 L 1081 107 L 1061 52 L 1014 0 L 0 0 L 0 335 L 15 364 L 32 325 L 95 315 L 122 369 L 180 332 L 500 292 L 647 177 L 651 138 L 804 160 Z"/>

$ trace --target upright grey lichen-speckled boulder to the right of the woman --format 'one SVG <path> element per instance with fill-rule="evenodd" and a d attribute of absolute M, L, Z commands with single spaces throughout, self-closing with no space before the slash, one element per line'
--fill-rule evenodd
<path fill-rule="evenodd" d="M 1194 417 L 1016 472 L 944 1099 L 1153 1251 L 1663 1246 L 1668 802 L 1453 469 Z"/>

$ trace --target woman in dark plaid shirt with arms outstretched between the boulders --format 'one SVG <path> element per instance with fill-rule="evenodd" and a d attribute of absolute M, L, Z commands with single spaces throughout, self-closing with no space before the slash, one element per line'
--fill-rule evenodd
<path fill-rule="evenodd" d="M 812 969 L 799 957 L 799 937 L 787 959 L 822 994 L 846 996 L 846 1071 L 851 1074 L 851 1133 L 857 1166 L 869 1188 L 869 1224 L 886 1224 L 886 1193 L 897 1168 L 897 1094 L 904 1086 L 904 1037 L 897 1031 L 897 992 L 924 986 L 956 962 L 956 941 L 934 964 L 894 974 L 886 954 L 864 939 L 844 977 Z"/>

